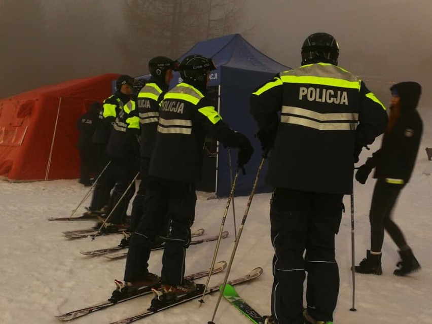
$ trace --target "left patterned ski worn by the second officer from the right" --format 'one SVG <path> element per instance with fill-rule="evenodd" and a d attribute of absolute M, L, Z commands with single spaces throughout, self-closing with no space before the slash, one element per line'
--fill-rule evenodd
<path fill-rule="evenodd" d="M 226 267 L 227 267 L 227 263 L 225 261 L 220 261 L 217 264 L 215 264 L 215 266 L 213 268 L 212 274 L 222 272 Z M 193 273 L 191 275 L 186 276 L 185 278 L 189 279 L 189 280 L 199 279 L 199 278 L 208 276 L 209 270 L 210 269 L 199 271 L 199 272 L 195 272 L 195 273 Z M 140 297 L 140 296 L 151 294 L 152 293 L 152 288 L 157 288 L 157 287 L 158 287 L 158 285 L 149 286 L 149 287 L 143 287 L 142 289 L 139 289 L 136 292 L 136 294 L 128 296 L 125 299 L 118 300 L 116 302 L 104 301 L 104 302 L 101 302 L 101 303 L 98 303 L 98 304 L 95 304 L 95 305 L 92 305 L 92 306 L 89 306 L 89 307 L 85 307 L 85 308 L 82 308 L 82 309 L 77 309 L 77 310 L 74 310 L 74 311 L 71 311 L 71 312 L 68 312 L 68 313 L 57 315 L 55 317 L 57 317 L 58 319 L 60 319 L 62 321 L 68 321 L 68 320 L 71 320 L 71 319 L 75 319 L 75 318 L 78 318 L 78 317 L 81 317 L 81 316 L 93 313 L 95 311 L 102 310 L 102 309 L 105 309 L 107 307 L 114 306 L 115 304 L 123 303 L 125 301 L 131 300 L 131 299 L 134 299 L 134 298 L 137 298 L 137 297 Z"/>

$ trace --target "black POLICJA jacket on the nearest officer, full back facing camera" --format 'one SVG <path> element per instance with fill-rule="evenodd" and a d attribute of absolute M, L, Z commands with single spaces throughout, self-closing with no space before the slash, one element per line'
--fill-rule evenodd
<path fill-rule="evenodd" d="M 335 194 L 352 192 L 354 161 L 388 120 L 363 81 L 329 63 L 276 75 L 251 95 L 250 113 L 275 134 L 267 184 Z"/>

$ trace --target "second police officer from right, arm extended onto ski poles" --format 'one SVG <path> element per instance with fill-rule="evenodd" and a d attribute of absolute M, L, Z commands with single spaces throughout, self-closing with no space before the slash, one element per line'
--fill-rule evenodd
<path fill-rule="evenodd" d="M 238 166 L 246 164 L 253 148 L 246 136 L 235 132 L 206 97 L 212 60 L 186 57 L 179 66 L 182 83 L 161 102 L 155 146 L 149 167 L 144 213 L 129 244 L 125 285 L 139 287 L 161 282 L 159 295 L 175 298 L 193 292 L 196 285 L 184 279 L 186 248 L 195 219 L 195 184 L 201 176 L 206 135 L 227 147 L 239 148 Z M 149 273 L 150 249 L 170 211 L 170 228 L 162 258 L 162 276 Z"/>

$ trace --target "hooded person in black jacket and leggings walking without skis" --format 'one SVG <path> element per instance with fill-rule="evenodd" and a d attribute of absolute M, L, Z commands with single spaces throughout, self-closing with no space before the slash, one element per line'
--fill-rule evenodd
<path fill-rule="evenodd" d="M 371 223 L 371 249 L 355 271 L 382 274 L 381 248 L 384 230 L 399 248 L 402 261 L 393 274 L 403 276 L 420 269 L 404 234 L 391 219 L 391 213 L 399 194 L 409 182 L 417 158 L 423 123 L 416 108 L 421 87 L 416 82 L 393 85 L 391 91 L 390 116 L 381 149 L 375 152 L 364 165 L 358 168 L 355 178 L 361 184 L 375 168 L 377 179 L 372 196 L 369 219 Z"/>

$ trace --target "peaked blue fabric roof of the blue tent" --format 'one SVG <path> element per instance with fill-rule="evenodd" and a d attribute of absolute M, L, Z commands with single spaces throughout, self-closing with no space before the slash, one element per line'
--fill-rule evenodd
<path fill-rule="evenodd" d="M 179 58 L 179 61 L 192 54 L 200 54 L 212 58 L 216 66 L 224 65 L 268 73 L 278 73 L 287 68 L 261 53 L 240 34 L 232 34 L 198 42 Z"/>

